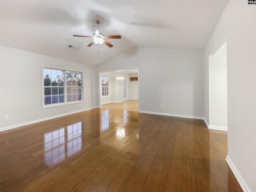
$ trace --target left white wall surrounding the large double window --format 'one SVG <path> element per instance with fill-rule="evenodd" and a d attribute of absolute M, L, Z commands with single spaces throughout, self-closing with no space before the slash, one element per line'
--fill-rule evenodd
<path fill-rule="evenodd" d="M 84 102 L 42 109 L 42 65 L 82 71 Z M 95 69 L 95 66 L 0 46 L 0 128 L 96 107 Z M 4 115 L 8 115 L 8 120 L 3 120 Z"/>

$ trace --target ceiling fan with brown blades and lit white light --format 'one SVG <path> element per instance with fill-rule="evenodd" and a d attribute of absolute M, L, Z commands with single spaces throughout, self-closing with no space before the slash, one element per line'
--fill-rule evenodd
<path fill-rule="evenodd" d="M 102 33 L 100 33 L 99 31 L 99 24 L 100 24 L 100 20 L 96 20 L 95 21 L 96 24 L 98 24 L 97 26 L 92 26 L 92 29 L 94 30 L 94 34 L 93 36 L 83 36 L 83 35 L 73 35 L 74 37 L 89 37 L 89 38 L 93 38 L 93 41 L 88 44 L 88 47 L 92 46 L 94 43 L 95 44 L 106 44 L 109 47 L 113 47 L 112 44 L 110 44 L 109 42 L 106 41 L 106 39 L 120 39 L 121 36 L 120 35 L 108 35 L 108 36 L 104 36 Z"/>

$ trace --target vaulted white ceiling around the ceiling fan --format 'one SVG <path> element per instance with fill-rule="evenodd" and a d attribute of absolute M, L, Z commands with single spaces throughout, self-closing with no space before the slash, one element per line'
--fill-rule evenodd
<path fill-rule="evenodd" d="M 97 65 L 133 47 L 203 50 L 228 0 L 0 0 L 0 45 Z M 87 45 L 92 25 L 121 35 Z M 68 45 L 77 47 L 68 48 Z M 99 51 L 99 54 L 98 54 Z"/>

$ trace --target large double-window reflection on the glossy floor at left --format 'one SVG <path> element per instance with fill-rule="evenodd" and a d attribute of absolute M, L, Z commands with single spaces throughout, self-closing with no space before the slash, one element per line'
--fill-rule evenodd
<path fill-rule="evenodd" d="M 44 134 L 45 164 L 53 166 L 82 149 L 82 122 Z"/>

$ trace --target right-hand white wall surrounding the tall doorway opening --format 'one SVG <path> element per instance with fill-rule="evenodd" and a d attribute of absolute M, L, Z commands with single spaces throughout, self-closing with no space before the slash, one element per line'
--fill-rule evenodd
<path fill-rule="evenodd" d="M 227 162 L 244 191 L 256 191 L 255 34 L 256 6 L 248 5 L 247 1 L 230 0 L 204 51 L 205 117 L 209 120 L 208 56 L 216 46 L 227 42 Z"/>

